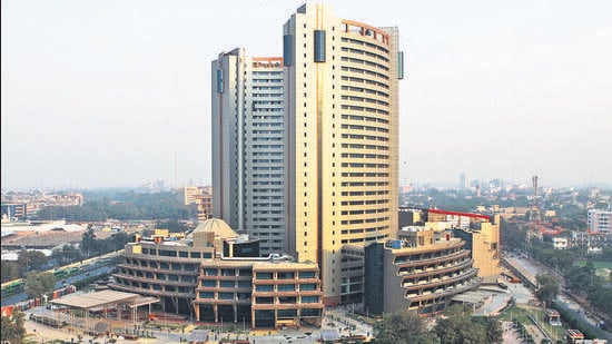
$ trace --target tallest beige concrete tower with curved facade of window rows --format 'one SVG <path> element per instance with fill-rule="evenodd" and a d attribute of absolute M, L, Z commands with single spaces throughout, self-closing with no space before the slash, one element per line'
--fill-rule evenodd
<path fill-rule="evenodd" d="M 289 247 L 319 264 L 324 302 L 337 304 L 342 246 L 397 230 L 397 29 L 306 3 L 283 42 Z"/>

